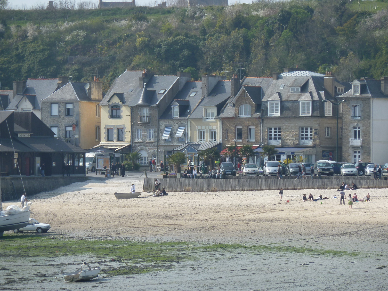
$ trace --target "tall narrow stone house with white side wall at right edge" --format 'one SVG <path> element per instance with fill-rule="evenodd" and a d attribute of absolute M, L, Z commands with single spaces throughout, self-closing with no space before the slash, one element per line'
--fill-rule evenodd
<path fill-rule="evenodd" d="M 339 98 L 342 106 L 343 161 L 388 162 L 388 78 L 361 78 Z"/>

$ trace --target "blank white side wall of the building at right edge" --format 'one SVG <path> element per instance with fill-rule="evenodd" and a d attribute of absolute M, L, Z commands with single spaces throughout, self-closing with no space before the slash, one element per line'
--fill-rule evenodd
<path fill-rule="evenodd" d="M 388 163 L 388 99 L 371 98 L 371 162 Z"/>

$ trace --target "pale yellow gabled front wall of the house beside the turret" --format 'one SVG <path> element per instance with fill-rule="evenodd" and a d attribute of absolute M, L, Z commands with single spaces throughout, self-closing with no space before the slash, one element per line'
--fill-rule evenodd
<path fill-rule="evenodd" d="M 121 105 L 121 118 L 109 118 L 110 107 L 108 105 L 102 105 L 101 107 L 101 142 L 106 142 L 106 126 L 125 125 L 124 142 L 131 142 L 131 109 L 128 105 L 121 104 L 120 99 L 115 96 L 109 100 L 109 104 L 120 103 Z"/>

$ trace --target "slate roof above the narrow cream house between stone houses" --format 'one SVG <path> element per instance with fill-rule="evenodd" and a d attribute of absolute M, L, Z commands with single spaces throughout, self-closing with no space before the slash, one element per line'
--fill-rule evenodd
<path fill-rule="evenodd" d="M 194 112 L 190 115 L 190 118 L 202 118 L 203 109 L 202 106 L 216 106 L 217 116 L 219 116 L 222 107 L 230 97 L 230 81 L 219 80 L 213 87 L 207 97 L 202 99 L 201 103 Z"/>

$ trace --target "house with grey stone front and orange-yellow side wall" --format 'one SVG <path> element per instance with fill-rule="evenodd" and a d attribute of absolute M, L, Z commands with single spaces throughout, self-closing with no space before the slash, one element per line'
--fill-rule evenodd
<path fill-rule="evenodd" d="M 69 82 L 42 100 L 42 121 L 54 136 L 83 149 L 100 143 L 102 83 Z"/>

